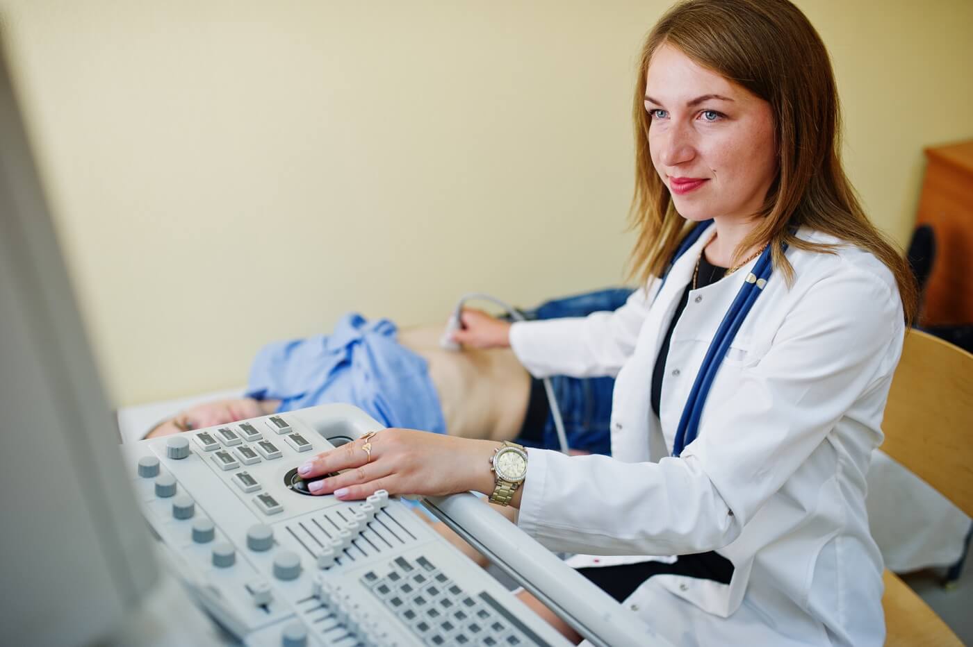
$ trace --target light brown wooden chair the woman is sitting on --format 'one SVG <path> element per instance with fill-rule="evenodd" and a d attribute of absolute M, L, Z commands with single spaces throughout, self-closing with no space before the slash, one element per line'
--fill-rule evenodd
<path fill-rule="evenodd" d="M 919 330 L 906 335 L 882 450 L 973 516 L 973 355 Z M 884 573 L 886 645 L 962 645 L 894 573 Z"/>

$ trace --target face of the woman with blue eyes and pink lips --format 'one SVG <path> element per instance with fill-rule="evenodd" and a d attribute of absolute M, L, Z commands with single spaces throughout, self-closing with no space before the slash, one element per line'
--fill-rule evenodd
<path fill-rule="evenodd" d="M 663 45 L 649 63 L 645 110 L 652 163 L 684 218 L 760 210 L 777 170 L 769 103 Z"/>

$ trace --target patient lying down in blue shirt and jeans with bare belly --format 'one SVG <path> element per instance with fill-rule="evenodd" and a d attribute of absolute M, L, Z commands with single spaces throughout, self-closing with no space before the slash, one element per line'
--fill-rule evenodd
<path fill-rule="evenodd" d="M 528 311 L 530 319 L 580 317 L 621 306 L 631 290 L 607 289 L 557 299 Z M 478 315 L 469 311 L 465 316 Z M 342 318 L 331 335 L 275 342 L 260 351 L 246 397 L 186 409 L 147 437 L 235 423 L 331 402 L 353 404 L 385 426 L 428 429 L 467 438 L 516 440 L 557 449 L 550 407 L 509 349 L 440 347 L 442 324 L 398 330 L 387 320 Z M 552 379 L 573 454 L 609 453 L 611 378 Z M 510 508 L 494 506 L 510 518 Z M 486 560 L 440 522 L 443 536 L 481 565 Z"/>

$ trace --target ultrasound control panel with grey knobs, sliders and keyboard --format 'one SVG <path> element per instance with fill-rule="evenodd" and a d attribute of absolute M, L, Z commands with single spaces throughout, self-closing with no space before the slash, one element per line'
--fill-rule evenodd
<path fill-rule="evenodd" d="M 380 428 L 324 405 L 124 449 L 183 580 L 245 644 L 569 644 L 396 497 L 307 493 L 308 456 Z"/>

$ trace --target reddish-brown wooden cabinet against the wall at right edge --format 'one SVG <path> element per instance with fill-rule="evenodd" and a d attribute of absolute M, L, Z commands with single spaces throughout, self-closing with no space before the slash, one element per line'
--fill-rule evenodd
<path fill-rule="evenodd" d="M 917 224 L 930 224 L 936 259 L 922 325 L 973 323 L 973 141 L 925 150 Z"/>

